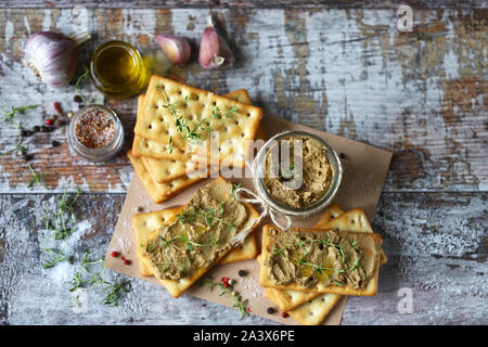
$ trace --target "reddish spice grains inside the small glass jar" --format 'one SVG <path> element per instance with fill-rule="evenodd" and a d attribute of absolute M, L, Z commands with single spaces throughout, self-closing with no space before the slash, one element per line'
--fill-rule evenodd
<path fill-rule="evenodd" d="M 88 149 L 101 149 L 114 140 L 115 125 L 111 115 L 100 110 L 90 110 L 75 124 L 75 137 Z"/>

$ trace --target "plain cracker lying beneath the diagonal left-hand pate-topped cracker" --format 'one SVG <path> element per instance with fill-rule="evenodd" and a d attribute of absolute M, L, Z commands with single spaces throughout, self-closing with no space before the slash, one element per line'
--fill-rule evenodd
<path fill-rule="evenodd" d="M 136 240 L 136 256 L 139 260 L 139 269 L 142 275 L 153 275 L 146 264 L 146 258 L 142 257 L 141 245 L 156 236 L 157 231 L 177 220 L 177 215 L 182 207 L 174 207 L 153 213 L 137 214 L 132 216 L 132 230 Z M 241 260 L 256 258 L 258 254 L 256 233 L 252 232 L 244 243 L 228 253 L 219 264 L 229 264 Z"/>

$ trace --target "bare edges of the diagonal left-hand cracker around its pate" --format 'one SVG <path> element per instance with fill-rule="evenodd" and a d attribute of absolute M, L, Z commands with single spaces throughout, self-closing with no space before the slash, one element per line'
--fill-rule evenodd
<path fill-rule="evenodd" d="M 227 187 L 226 187 L 227 185 L 227 181 L 222 177 L 219 177 L 219 178 L 213 180 L 208 184 L 217 184 L 216 189 L 221 189 L 221 193 L 224 194 L 224 195 L 231 194 L 227 190 Z M 221 184 L 221 188 L 220 188 L 220 184 Z M 259 218 L 259 213 L 253 207 L 253 205 L 247 204 L 247 203 L 243 203 L 243 204 L 245 205 L 245 207 L 246 207 L 246 209 L 248 211 L 248 218 L 245 221 L 245 223 L 242 226 L 241 230 L 244 230 L 244 229 L 253 226 L 255 220 L 257 218 Z M 253 228 L 256 228 L 256 226 L 254 226 Z M 157 236 L 157 234 L 155 236 Z M 219 258 L 213 265 L 210 265 L 208 268 L 196 269 L 189 278 L 182 278 L 182 279 L 179 279 L 179 280 L 166 280 L 166 279 L 159 279 L 159 278 L 156 277 L 156 279 L 166 287 L 166 290 L 169 292 L 169 294 L 171 294 L 171 296 L 179 297 L 193 283 L 195 283 L 202 275 L 204 275 L 214 265 L 219 264 L 219 261 L 221 259 L 223 259 L 223 257 L 227 254 L 229 254 L 230 252 L 232 252 L 232 248 L 223 250 L 219 255 Z M 142 258 L 146 258 L 146 256 L 144 254 L 142 254 L 141 257 Z M 152 271 L 153 273 L 157 273 L 156 271 L 154 271 L 154 267 L 153 267 L 152 262 L 149 259 L 146 259 L 144 264 L 147 266 L 150 271 Z"/>

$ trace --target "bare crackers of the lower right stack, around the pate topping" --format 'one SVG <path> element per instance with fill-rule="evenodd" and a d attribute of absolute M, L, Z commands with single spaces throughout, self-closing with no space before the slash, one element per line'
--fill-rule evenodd
<path fill-rule="evenodd" d="M 334 230 L 336 232 L 357 232 L 370 233 L 374 235 L 371 224 L 364 211 L 360 208 L 355 208 L 345 213 L 341 207 L 333 205 L 329 207 L 320 220 L 314 226 L 313 230 Z M 262 252 L 258 257 L 261 264 L 259 271 L 259 284 L 265 290 L 265 295 L 268 299 L 274 303 L 283 312 L 290 314 L 293 319 L 304 325 L 319 325 L 331 312 L 334 306 L 343 295 L 374 295 L 377 291 L 377 275 L 370 281 L 367 290 L 362 293 L 352 293 L 347 287 L 326 288 L 325 291 L 299 291 L 295 288 L 279 288 L 270 285 L 266 279 L 266 272 L 262 271 L 262 258 L 267 256 L 267 226 L 264 227 L 262 233 Z M 387 261 L 386 255 L 380 250 L 378 265 Z M 329 292 L 329 293 L 324 293 Z M 335 293 L 333 293 L 335 292 Z"/>

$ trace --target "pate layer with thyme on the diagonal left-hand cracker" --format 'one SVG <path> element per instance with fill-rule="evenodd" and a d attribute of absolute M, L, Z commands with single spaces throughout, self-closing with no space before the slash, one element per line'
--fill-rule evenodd
<path fill-rule="evenodd" d="M 158 279 L 188 278 L 231 249 L 231 239 L 247 219 L 247 207 L 234 197 L 232 184 L 218 179 L 196 191 L 177 219 L 143 245 L 143 253 Z"/>

